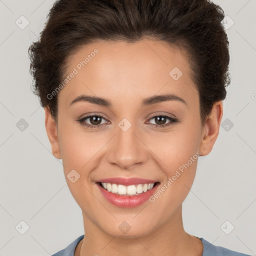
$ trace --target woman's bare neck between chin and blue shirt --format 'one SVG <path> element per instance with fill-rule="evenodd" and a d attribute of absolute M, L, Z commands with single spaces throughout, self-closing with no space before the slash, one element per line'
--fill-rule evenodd
<path fill-rule="evenodd" d="M 150 233 L 132 237 L 118 237 L 105 233 L 83 214 L 84 238 L 75 249 L 74 256 L 200 256 L 202 243 L 184 231 L 181 206 L 163 225 Z"/>

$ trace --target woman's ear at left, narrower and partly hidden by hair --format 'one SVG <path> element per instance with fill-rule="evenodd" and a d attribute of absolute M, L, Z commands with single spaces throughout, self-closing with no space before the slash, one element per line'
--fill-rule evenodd
<path fill-rule="evenodd" d="M 58 142 L 58 133 L 57 133 L 57 124 L 55 120 L 52 118 L 48 107 L 44 107 L 45 111 L 45 128 L 47 132 L 48 139 L 51 144 L 52 154 L 61 159 L 59 142 Z"/>

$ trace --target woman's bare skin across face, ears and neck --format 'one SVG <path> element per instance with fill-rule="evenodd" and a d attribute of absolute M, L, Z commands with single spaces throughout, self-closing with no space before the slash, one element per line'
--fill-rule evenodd
<path fill-rule="evenodd" d="M 202 255 L 201 241 L 184 231 L 181 211 L 197 160 L 154 202 L 137 207 L 110 204 L 95 181 L 141 177 L 158 180 L 161 187 L 196 151 L 201 156 L 211 151 L 222 118 L 222 101 L 214 103 L 202 125 L 199 94 L 185 52 L 148 38 L 83 45 L 69 57 L 66 73 L 94 48 L 99 52 L 58 93 L 56 122 L 44 108 L 52 153 L 62 158 L 67 185 L 82 210 L 85 236 L 75 256 Z M 178 80 L 169 75 L 175 66 L 183 73 Z M 142 99 L 165 93 L 183 98 L 186 104 L 168 100 L 141 108 Z M 81 94 L 106 98 L 112 107 L 86 101 L 70 106 Z M 76 121 L 91 113 L 103 117 L 100 127 L 87 128 Z M 159 122 L 152 117 L 161 114 L 176 116 L 179 122 L 157 127 Z M 125 132 L 118 127 L 123 118 L 131 123 Z M 89 118 L 86 122 L 92 124 Z M 74 183 L 67 178 L 72 169 L 80 174 Z M 123 221 L 131 227 L 127 233 L 118 228 Z"/>

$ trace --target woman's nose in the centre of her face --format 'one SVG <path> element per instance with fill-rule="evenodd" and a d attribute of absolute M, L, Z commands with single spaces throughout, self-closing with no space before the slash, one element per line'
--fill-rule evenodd
<path fill-rule="evenodd" d="M 126 131 L 117 126 L 116 134 L 109 144 L 107 155 L 109 163 L 126 170 L 144 163 L 147 159 L 147 147 L 140 134 L 141 132 L 135 128 L 135 125 L 131 125 Z"/>

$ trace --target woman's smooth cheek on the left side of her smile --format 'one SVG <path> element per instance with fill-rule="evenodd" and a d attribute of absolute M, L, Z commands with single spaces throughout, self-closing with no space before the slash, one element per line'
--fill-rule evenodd
<path fill-rule="evenodd" d="M 77 132 L 74 127 L 68 125 L 62 127 L 59 134 L 63 170 L 68 188 L 80 207 L 84 204 L 88 208 L 95 207 L 87 180 L 90 173 L 89 166 L 98 151 L 97 146 L 95 143 L 91 146 L 93 144 L 91 136 Z"/>

